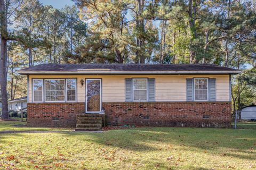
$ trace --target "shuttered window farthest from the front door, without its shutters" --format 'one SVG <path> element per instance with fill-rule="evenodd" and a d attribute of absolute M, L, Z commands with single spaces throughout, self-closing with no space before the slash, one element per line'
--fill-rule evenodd
<path fill-rule="evenodd" d="M 208 79 L 194 79 L 195 100 L 208 100 Z"/>

